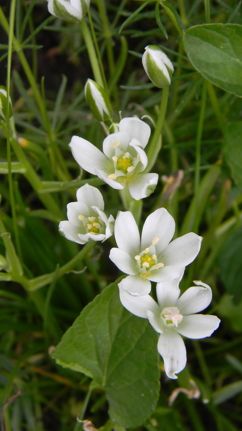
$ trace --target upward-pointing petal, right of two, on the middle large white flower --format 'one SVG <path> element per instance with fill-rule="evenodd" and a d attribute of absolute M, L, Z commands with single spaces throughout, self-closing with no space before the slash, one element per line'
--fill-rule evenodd
<path fill-rule="evenodd" d="M 149 247 L 152 240 L 158 237 L 159 241 L 156 244 L 156 255 L 158 256 L 172 240 L 174 232 L 175 220 L 172 215 L 165 208 L 156 209 L 156 211 L 148 215 L 144 222 L 141 235 L 141 248 Z M 163 261 L 161 260 L 161 262 Z M 167 265 L 170 264 L 168 263 Z"/>

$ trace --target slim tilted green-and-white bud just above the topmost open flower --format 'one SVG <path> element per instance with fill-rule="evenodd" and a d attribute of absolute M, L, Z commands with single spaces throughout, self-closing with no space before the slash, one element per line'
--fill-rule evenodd
<path fill-rule="evenodd" d="M 85 96 L 93 115 L 98 121 L 107 121 L 113 116 L 113 108 L 106 91 L 92 79 L 86 81 Z"/>

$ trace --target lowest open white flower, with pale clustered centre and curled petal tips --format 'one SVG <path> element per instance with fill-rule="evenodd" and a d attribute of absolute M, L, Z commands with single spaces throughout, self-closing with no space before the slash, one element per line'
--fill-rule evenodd
<path fill-rule="evenodd" d="M 199 287 L 190 287 L 180 296 L 179 281 L 184 273 L 174 281 L 157 283 L 156 293 L 159 305 L 150 295 L 134 297 L 119 286 L 120 301 L 131 313 L 149 319 L 150 324 L 160 334 L 158 351 L 164 360 L 165 372 L 169 378 L 184 369 L 187 353 L 181 335 L 188 338 L 205 338 L 218 328 L 220 319 L 213 315 L 194 314 L 205 309 L 211 302 L 211 288 L 194 281 Z M 181 334 L 181 335 L 180 335 Z"/>

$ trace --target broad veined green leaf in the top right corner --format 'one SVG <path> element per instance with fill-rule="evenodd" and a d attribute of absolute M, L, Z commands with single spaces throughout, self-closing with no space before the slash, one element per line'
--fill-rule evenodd
<path fill-rule="evenodd" d="M 242 25 L 195 25 L 183 40 L 191 63 L 208 81 L 242 97 Z"/>

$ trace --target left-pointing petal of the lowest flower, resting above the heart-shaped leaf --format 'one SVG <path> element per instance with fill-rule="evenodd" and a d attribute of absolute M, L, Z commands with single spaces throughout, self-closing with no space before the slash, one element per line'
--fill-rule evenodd
<path fill-rule="evenodd" d="M 147 319 L 147 310 L 159 312 L 159 306 L 150 295 L 132 296 L 119 287 L 119 297 L 123 306 L 138 317 Z"/>

